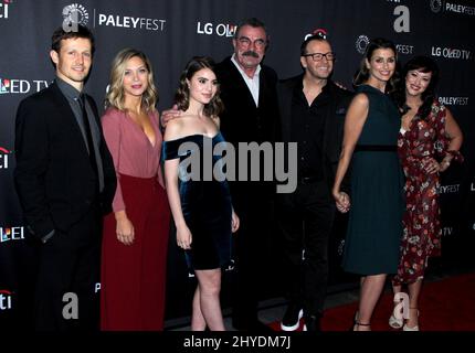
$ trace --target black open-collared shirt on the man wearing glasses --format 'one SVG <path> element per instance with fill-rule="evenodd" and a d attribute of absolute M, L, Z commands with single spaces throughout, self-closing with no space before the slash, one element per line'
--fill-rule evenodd
<path fill-rule="evenodd" d="M 298 143 L 298 176 L 323 180 L 323 138 L 325 128 L 325 109 L 329 103 L 326 86 L 308 106 L 300 81 L 292 98 L 291 140 Z"/>

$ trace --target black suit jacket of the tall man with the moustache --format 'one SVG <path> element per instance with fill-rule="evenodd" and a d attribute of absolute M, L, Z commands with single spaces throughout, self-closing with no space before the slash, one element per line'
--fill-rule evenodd
<path fill-rule="evenodd" d="M 217 74 L 220 82 L 220 96 L 224 103 L 224 111 L 221 114 L 221 131 L 225 140 L 233 143 L 235 148 L 239 142 L 255 141 L 261 145 L 278 141 L 281 127 L 275 71 L 261 64 L 258 107 L 241 73 L 231 62 L 231 56 L 217 65 Z M 238 160 L 236 157 L 236 162 Z M 250 165 L 250 163 L 247 164 Z M 250 167 L 247 170 L 251 170 Z M 239 168 L 236 168 L 236 178 L 238 175 Z M 233 199 L 238 200 L 238 203 L 242 196 L 272 197 L 275 192 L 274 182 L 236 182 L 230 183 L 230 186 Z"/>

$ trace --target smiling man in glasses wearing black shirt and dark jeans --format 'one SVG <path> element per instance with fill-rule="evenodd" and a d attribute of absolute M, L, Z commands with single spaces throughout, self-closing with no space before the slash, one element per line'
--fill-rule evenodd
<path fill-rule="evenodd" d="M 277 195 L 289 299 L 281 328 L 319 331 L 328 279 L 328 238 L 335 216 L 331 197 L 345 114 L 352 94 L 329 79 L 335 54 L 323 31 L 300 46 L 304 73 L 279 82 L 284 142 L 298 143 L 297 189 Z"/>

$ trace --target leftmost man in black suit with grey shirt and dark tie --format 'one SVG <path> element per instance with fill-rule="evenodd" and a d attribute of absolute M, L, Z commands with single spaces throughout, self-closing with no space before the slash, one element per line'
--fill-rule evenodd
<path fill-rule="evenodd" d="M 116 176 L 96 104 L 83 92 L 93 54 L 87 28 L 57 29 L 50 52 L 56 79 L 17 111 L 14 181 L 28 228 L 41 242 L 36 330 L 98 328 L 102 217 Z"/>

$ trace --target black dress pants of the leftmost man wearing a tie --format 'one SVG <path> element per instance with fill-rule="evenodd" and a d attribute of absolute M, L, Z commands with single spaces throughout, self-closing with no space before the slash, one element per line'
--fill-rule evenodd
<path fill-rule="evenodd" d="M 98 330 L 99 293 L 95 287 L 101 274 L 101 236 L 102 216 L 94 205 L 67 232 L 55 229 L 53 237 L 40 245 L 36 331 Z"/>

